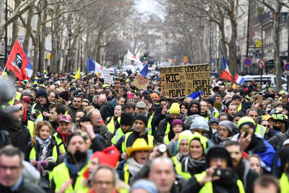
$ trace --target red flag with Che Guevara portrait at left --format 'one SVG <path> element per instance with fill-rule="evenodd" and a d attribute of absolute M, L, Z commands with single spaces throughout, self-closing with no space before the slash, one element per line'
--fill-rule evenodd
<path fill-rule="evenodd" d="M 12 70 L 15 73 L 15 76 L 20 80 L 22 80 L 22 75 L 25 73 L 25 67 L 28 64 L 28 59 L 26 57 L 25 52 L 20 46 L 18 40 L 16 42 L 10 52 L 9 58 L 5 67 Z"/>

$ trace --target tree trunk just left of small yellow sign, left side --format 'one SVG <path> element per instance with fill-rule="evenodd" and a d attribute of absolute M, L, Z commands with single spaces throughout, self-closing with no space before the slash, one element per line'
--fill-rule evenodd
<path fill-rule="evenodd" d="M 46 0 L 42 0 L 41 4 L 43 4 L 44 9 L 43 9 L 43 18 L 42 21 L 46 21 L 47 19 L 47 1 Z M 39 53 L 39 71 L 40 73 L 44 72 L 44 60 L 45 60 L 45 37 L 46 37 L 46 24 L 42 24 L 41 27 L 41 43 L 40 43 L 40 53 Z"/>

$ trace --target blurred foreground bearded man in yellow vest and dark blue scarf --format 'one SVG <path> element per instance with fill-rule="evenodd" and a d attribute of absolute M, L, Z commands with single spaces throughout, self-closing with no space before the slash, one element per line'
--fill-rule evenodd
<path fill-rule="evenodd" d="M 68 137 L 64 162 L 53 169 L 49 192 L 88 192 L 88 187 L 80 183 L 89 165 L 87 151 L 86 140 L 81 133 L 73 133 Z"/>

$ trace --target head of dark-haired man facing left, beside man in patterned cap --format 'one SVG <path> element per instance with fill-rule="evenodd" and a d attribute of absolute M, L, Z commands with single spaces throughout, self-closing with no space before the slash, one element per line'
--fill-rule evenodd
<path fill-rule="evenodd" d="M 49 122 L 51 126 L 54 128 L 54 132 L 57 132 L 57 128 L 59 127 L 59 119 L 61 115 L 65 114 L 65 107 L 60 103 L 51 104 L 49 106 Z"/>

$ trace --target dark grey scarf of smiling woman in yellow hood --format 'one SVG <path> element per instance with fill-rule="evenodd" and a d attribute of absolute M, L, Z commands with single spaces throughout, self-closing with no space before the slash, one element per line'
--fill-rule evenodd
<path fill-rule="evenodd" d="M 200 161 L 194 160 L 188 155 L 181 161 L 181 171 L 189 172 L 191 175 L 199 174 L 205 170 L 206 159 L 203 156 Z"/>

